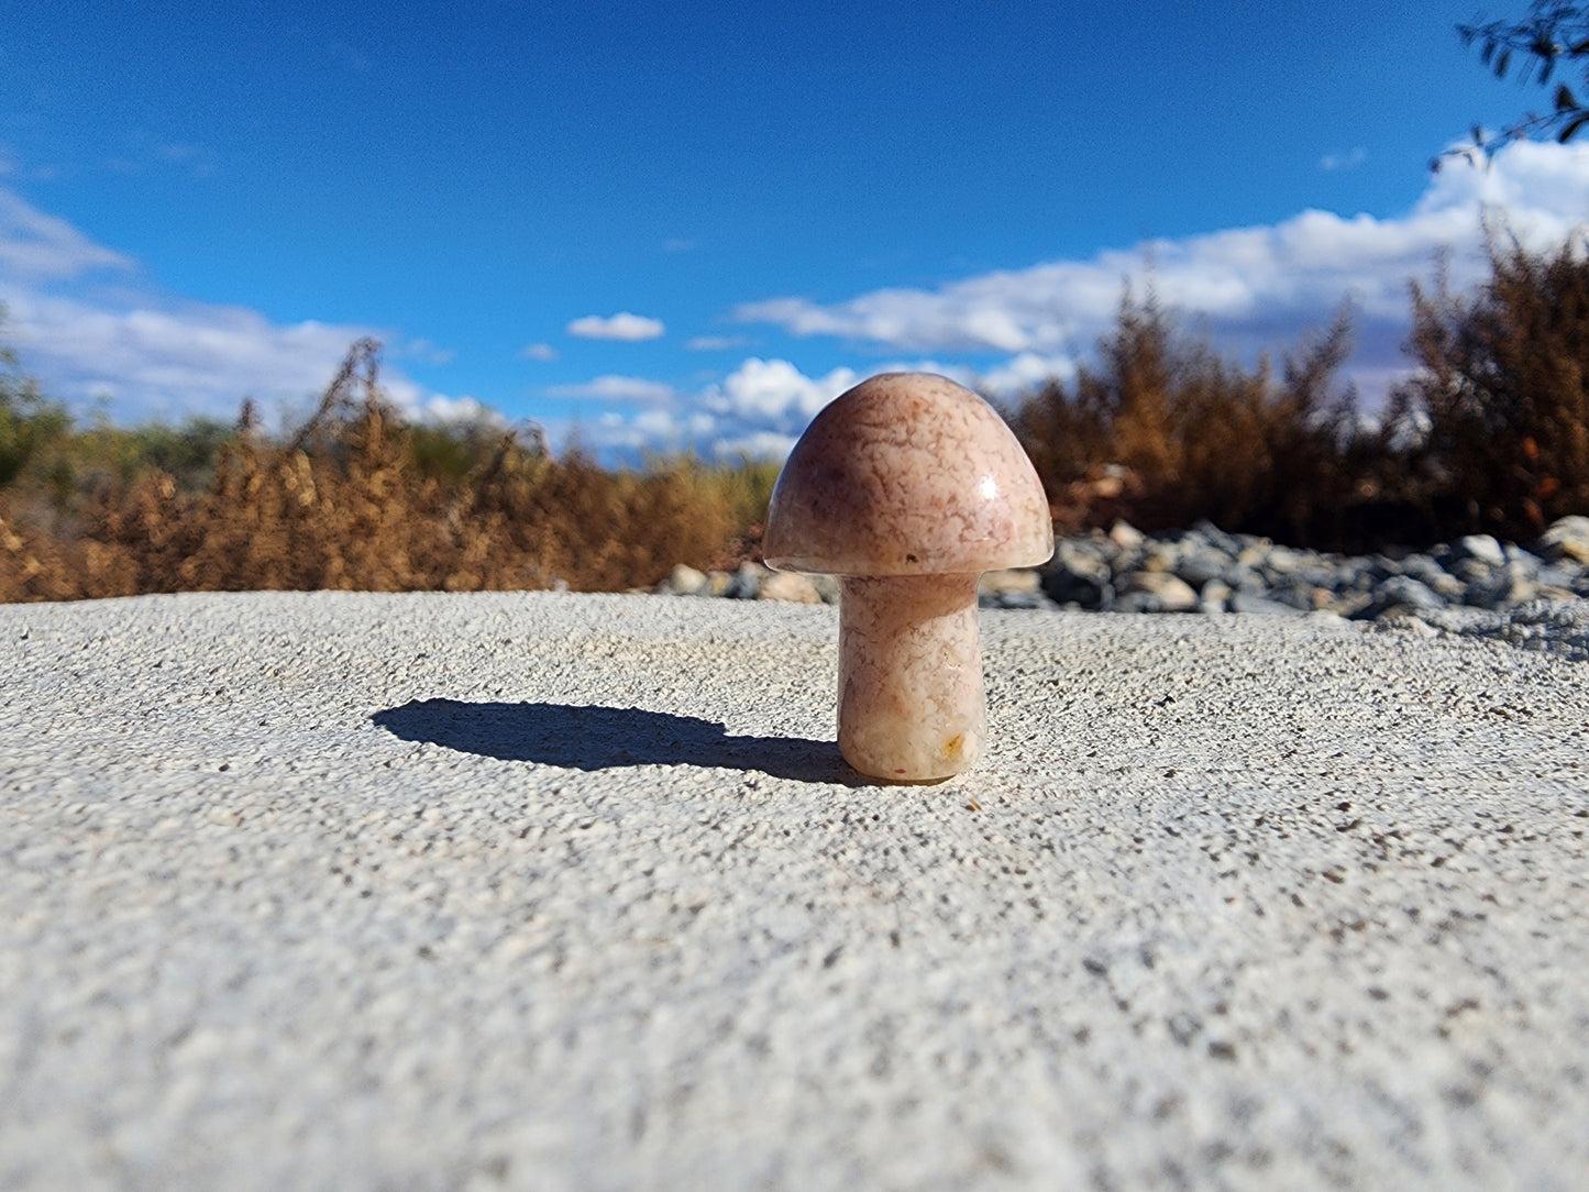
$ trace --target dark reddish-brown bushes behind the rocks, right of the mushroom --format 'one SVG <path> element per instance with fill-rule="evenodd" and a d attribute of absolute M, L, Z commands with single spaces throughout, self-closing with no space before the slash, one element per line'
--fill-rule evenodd
<path fill-rule="evenodd" d="M 1529 540 L 1589 513 L 1589 251 L 1489 240 L 1473 294 L 1413 286 L 1416 373 L 1368 416 L 1338 372 L 1347 312 L 1276 369 L 1231 364 L 1152 299 L 1098 364 L 1007 412 L 1061 529 L 1200 518 L 1292 545 Z"/>

